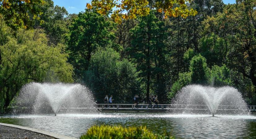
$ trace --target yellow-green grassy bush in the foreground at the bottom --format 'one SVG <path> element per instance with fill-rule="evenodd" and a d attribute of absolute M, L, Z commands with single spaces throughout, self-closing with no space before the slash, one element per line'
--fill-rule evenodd
<path fill-rule="evenodd" d="M 154 134 L 146 127 L 92 126 L 81 139 L 171 139 L 168 135 Z"/>

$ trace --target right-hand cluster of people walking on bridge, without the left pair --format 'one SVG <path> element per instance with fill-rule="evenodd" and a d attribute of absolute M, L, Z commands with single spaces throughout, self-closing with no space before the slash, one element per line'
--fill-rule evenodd
<path fill-rule="evenodd" d="M 135 96 L 133 97 L 133 99 L 132 99 L 132 102 L 133 102 L 134 104 L 136 104 L 135 107 L 138 108 L 139 96 L 138 96 L 138 95 L 135 95 Z M 146 103 L 148 103 L 148 104 L 149 104 L 149 107 L 151 107 L 151 108 L 155 108 L 155 105 L 156 105 L 156 107 L 158 108 L 158 103 L 159 103 L 159 101 L 158 101 L 157 95 L 150 95 L 148 102 L 146 102 L 146 96 L 145 96 L 144 99 L 143 99 L 143 103 L 142 103 L 142 104 L 146 104 Z M 143 106 L 141 106 L 141 108 L 143 108 Z"/>

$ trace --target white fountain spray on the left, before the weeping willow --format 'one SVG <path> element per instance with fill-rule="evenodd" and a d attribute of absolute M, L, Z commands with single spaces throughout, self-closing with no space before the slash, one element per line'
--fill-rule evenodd
<path fill-rule="evenodd" d="M 95 100 L 89 89 L 80 84 L 29 83 L 22 87 L 17 98 L 19 108 L 27 108 L 31 113 L 59 112 L 61 107 L 83 107 L 87 112 L 95 112 Z"/>

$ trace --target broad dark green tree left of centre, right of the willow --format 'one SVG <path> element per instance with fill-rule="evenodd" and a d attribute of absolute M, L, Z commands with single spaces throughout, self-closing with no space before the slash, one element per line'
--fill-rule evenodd
<path fill-rule="evenodd" d="M 80 12 L 70 27 L 68 51 L 70 63 L 75 67 L 76 78 L 88 69 L 92 53 L 97 47 L 105 47 L 115 39 L 110 32 L 112 23 L 93 11 Z M 119 49 L 118 45 L 113 47 Z"/>

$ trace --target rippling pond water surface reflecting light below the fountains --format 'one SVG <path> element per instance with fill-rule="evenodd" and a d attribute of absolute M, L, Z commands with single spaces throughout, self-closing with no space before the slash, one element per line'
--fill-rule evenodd
<path fill-rule="evenodd" d="M 177 138 L 256 138 L 256 116 L 170 115 L 166 113 L 101 113 L 2 116 L 0 122 L 79 138 L 92 125 L 147 126 Z"/>

